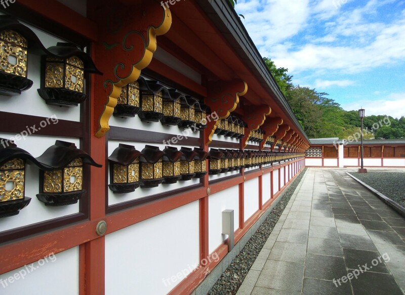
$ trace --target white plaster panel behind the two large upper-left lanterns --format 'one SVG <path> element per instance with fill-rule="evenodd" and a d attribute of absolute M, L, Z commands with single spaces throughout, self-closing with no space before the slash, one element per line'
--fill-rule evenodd
<path fill-rule="evenodd" d="M 26 23 L 24 24 L 35 32 L 46 48 L 55 46 L 58 42 L 66 42 L 66 40 L 52 36 Z M 79 106 L 72 108 L 50 106 L 38 95 L 37 89 L 41 87 L 41 57 L 32 54 L 29 49 L 27 69 L 27 78 L 33 81 L 32 87 L 22 92 L 19 96 L 8 97 L 0 95 L 0 110 L 46 118 L 56 115 L 58 119 L 70 121 L 80 120 Z"/>

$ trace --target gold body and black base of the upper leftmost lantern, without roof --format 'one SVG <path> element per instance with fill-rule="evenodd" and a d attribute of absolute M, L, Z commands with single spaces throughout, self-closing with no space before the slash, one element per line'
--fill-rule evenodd
<path fill-rule="evenodd" d="M 31 88 L 27 78 L 28 42 L 14 30 L 0 32 L 0 94 L 20 95 Z"/>

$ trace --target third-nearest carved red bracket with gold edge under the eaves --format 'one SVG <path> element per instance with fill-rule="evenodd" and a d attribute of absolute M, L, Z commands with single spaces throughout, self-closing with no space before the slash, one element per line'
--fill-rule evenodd
<path fill-rule="evenodd" d="M 245 137 L 241 140 L 242 149 L 247 146 L 252 131 L 258 130 L 270 113 L 271 108 L 268 105 L 253 106 L 249 107 L 249 110 L 245 110 L 243 120 L 248 124 L 248 127 L 245 128 Z"/>

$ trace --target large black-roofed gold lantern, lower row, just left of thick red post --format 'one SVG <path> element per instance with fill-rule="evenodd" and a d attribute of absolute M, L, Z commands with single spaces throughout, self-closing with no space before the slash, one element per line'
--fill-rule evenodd
<path fill-rule="evenodd" d="M 86 193 L 83 189 L 83 164 L 102 167 L 73 143 L 57 140 L 38 162 L 50 167 L 41 171 L 38 200 L 47 206 L 75 204 Z"/>

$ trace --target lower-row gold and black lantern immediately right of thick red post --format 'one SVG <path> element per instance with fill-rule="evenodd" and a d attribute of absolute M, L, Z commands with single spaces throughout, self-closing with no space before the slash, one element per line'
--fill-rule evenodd
<path fill-rule="evenodd" d="M 134 192 L 140 185 L 139 157 L 142 153 L 134 146 L 119 144 L 108 157 L 110 162 L 110 184 L 117 194 Z"/>

